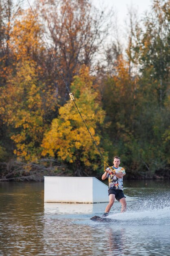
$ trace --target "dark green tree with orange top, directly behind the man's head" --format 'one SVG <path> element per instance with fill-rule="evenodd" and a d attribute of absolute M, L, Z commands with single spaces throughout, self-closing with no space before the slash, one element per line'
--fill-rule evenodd
<path fill-rule="evenodd" d="M 106 111 L 106 120 L 110 126 L 106 130 L 110 137 L 109 157 L 121 155 L 124 164 L 128 162 L 132 154 L 130 145 L 134 139 L 134 113 L 133 113 L 133 88 L 128 63 L 120 55 L 115 66 L 115 74 L 108 76 L 103 84 L 103 107 Z M 127 164 L 128 165 L 128 164 Z"/>

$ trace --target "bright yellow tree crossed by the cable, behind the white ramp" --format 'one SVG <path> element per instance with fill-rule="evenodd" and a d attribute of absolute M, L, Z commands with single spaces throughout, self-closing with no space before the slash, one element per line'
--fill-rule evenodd
<path fill-rule="evenodd" d="M 93 78 L 85 65 L 79 76 L 74 77 L 71 91 L 93 138 L 98 145 L 101 144 L 100 128 L 104 124 L 105 112 L 101 107 L 97 85 L 93 85 Z M 70 163 L 74 174 L 78 176 L 91 175 L 93 170 L 100 169 L 104 164 L 71 100 L 60 107 L 59 116 L 53 119 L 50 130 L 44 135 L 42 147 L 43 156 L 58 157 Z"/>

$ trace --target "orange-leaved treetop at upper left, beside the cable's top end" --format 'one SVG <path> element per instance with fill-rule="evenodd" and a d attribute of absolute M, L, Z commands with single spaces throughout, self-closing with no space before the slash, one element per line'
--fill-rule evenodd
<path fill-rule="evenodd" d="M 37 65 L 42 65 L 44 42 L 31 10 L 20 11 L 20 17 L 13 23 L 11 46 L 16 62 L 33 60 Z"/>

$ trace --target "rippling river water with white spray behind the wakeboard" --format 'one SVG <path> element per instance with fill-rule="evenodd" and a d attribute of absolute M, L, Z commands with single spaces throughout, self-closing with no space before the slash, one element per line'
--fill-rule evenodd
<path fill-rule="evenodd" d="M 44 204 L 43 182 L 0 183 L 0 256 L 148 256 L 170 255 L 170 185 L 159 181 L 124 182 L 137 198 L 120 213 L 115 202 L 109 218 L 93 222 L 102 204 Z"/>

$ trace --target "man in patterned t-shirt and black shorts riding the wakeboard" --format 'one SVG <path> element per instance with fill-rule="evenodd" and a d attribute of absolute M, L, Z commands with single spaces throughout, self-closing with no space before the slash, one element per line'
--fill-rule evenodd
<path fill-rule="evenodd" d="M 109 203 L 106 206 L 102 217 L 108 216 L 108 213 L 115 202 L 115 198 L 121 203 L 121 212 L 126 211 L 126 199 L 123 193 L 123 176 L 126 173 L 123 167 L 119 167 L 119 164 L 120 157 L 115 156 L 113 159 L 113 166 L 110 168 L 108 167 L 102 175 L 102 180 L 105 180 L 108 177 L 109 182 Z"/>

